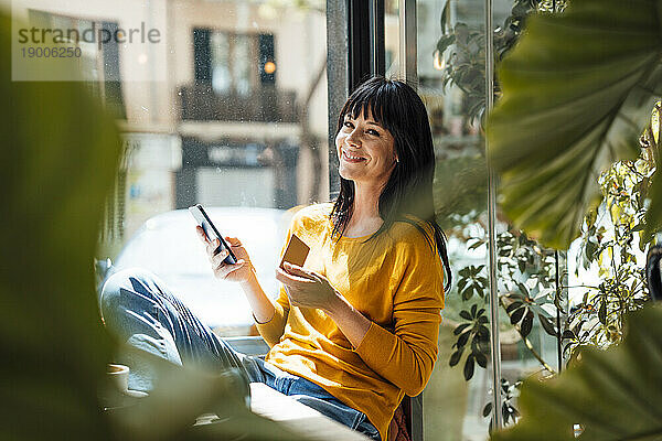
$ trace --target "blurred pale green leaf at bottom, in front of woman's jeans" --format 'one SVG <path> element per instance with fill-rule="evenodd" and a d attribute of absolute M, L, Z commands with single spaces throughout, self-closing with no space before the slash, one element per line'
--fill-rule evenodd
<path fill-rule="evenodd" d="M 127 347 L 132 359 L 142 358 L 154 370 L 156 387 L 149 397 L 110 412 L 116 439 L 135 440 L 303 440 L 246 407 L 248 385 L 237 370 L 210 374 L 183 368 L 142 351 Z M 201 415 L 220 419 L 193 426 Z"/>

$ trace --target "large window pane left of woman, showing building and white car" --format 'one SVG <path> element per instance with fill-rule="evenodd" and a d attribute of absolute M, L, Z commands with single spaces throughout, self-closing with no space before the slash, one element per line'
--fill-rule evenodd
<path fill-rule="evenodd" d="M 205 205 L 222 234 L 239 237 L 277 295 L 289 209 L 329 200 L 324 2 L 33 0 L 24 15 L 65 35 L 119 35 L 76 41 L 126 151 L 99 283 L 151 269 L 218 333 L 256 334 L 238 284 L 213 278 L 185 208 Z"/>

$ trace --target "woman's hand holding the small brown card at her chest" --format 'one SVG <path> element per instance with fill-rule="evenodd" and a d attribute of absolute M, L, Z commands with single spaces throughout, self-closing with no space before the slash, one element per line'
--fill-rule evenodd
<path fill-rule="evenodd" d="M 282 266 L 285 271 L 278 268 L 276 279 L 285 284 L 285 291 L 292 305 L 329 312 L 341 298 L 342 294 L 324 276 L 288 262 Z"/>

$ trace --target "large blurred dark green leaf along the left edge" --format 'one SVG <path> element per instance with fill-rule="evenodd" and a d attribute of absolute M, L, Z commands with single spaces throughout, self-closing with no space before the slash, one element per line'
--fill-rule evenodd
<path fill-rule="evenodd" d="M 0 13 L 0 439 L 108 439 L 93 256 L 119 138 L 83 83 L 11 80 L 11 29 Z"/>

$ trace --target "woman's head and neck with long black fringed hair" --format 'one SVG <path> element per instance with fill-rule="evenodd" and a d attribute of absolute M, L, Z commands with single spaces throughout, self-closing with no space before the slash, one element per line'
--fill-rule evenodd
<path fill-rule="evenodd" d="M 435 220 L 433 202 L 433 137 L 416 92 L 403 82 L 382 77 L 365 82 L 340 112 L 335 147 L 341 180 L 332 212 L 333 233 L 376 236 L 394 222 L 408 222 L 404 214 L 424 219 L 434 229 L 449 289 L 446 237 Z M 364 216 L 371 211 L 372 215 Z"/>

